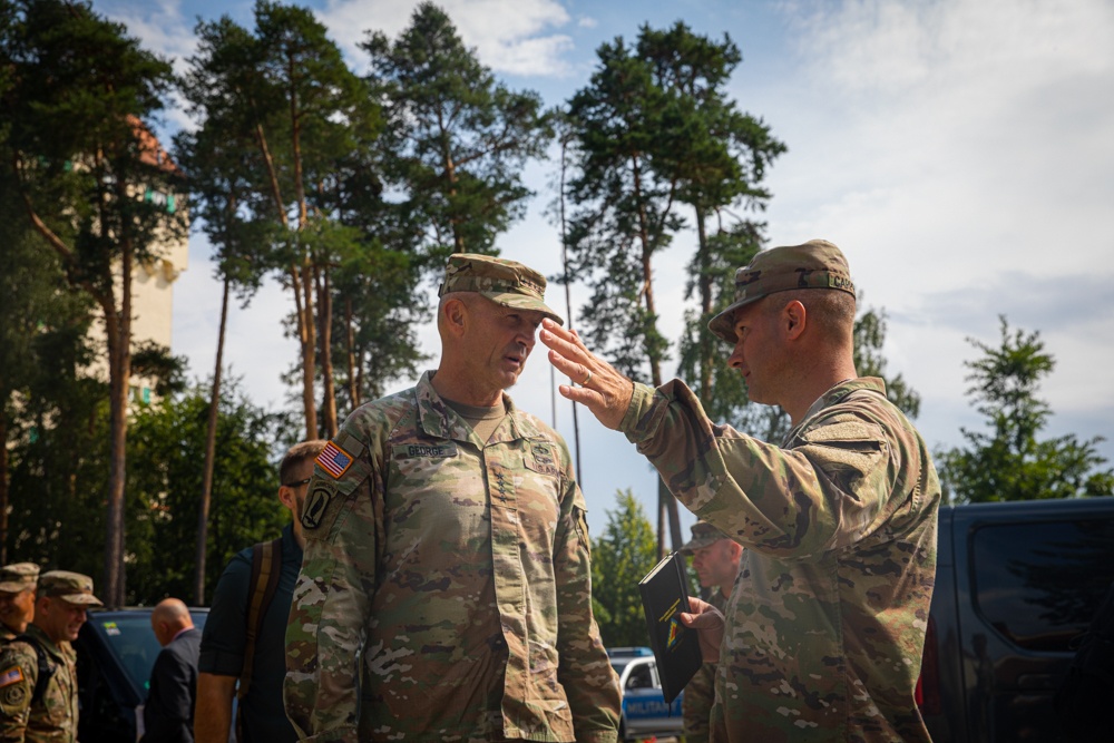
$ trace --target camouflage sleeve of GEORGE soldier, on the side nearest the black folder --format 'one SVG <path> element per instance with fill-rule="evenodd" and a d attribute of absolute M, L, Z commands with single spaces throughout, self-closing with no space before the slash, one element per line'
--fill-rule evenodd
<path fill-rule="evenodd" d="M 618 736 L 619 684 L 592 614 L 592 555 L 584 496 L 567 479 L 554 542 L 557 581 L 557 678 L 573 712 L 578 742 L 612 743 Z"/>

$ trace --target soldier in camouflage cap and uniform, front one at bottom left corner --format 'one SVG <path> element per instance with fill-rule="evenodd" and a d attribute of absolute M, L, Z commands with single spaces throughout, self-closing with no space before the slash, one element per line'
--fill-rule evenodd
<path fill-rule="evenodd" d="M 100 599 L 88 576 L 66 570 L 39 576 L 35 618 L 25 635 L 0 648 L 0 742 L 77 741 L 77 656 L 70 642 L 89 606 L 100 606 Z"/>

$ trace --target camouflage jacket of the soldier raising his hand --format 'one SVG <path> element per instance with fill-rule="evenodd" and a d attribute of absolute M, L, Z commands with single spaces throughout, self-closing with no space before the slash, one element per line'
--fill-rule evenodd
<path fill-rule="evenodd" d="M 713 741 L 928 741 L 913 701 L 940 486 L 920 434 L 861 378 L 782 447 L 713 426 L 678 381 L 620 426 L 693 512 L 746 547 L 716 668 Z"/>

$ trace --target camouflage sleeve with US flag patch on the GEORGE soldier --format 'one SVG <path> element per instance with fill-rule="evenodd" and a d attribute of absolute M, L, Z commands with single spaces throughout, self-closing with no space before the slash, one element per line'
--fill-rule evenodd
<path fill-rule="evenodd" d="M 305 555 L 286 627 L 283 700 L 301 740 L 355 743 L 360 651 L 375 583 L 372 489 L 379 478 L 354 437 L 334 441 L 349 463 L 334 477 L 340 468 L 323 468 L 319 457 L 307 488 Z"/>

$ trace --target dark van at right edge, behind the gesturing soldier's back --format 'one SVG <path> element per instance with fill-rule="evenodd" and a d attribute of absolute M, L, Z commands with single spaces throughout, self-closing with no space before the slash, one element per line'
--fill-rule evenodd
<path fill-rule="evenodd" d="M 941 508 L 918 687 L 932 740 L 1062 740 L 1053 696 L 1112 581 L 1114 498 Z"/>

